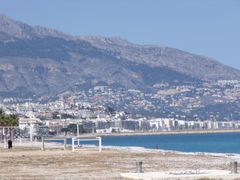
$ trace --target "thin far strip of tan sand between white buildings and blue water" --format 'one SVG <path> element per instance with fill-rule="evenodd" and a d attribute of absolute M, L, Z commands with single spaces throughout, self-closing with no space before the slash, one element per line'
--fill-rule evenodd
<path fill-rule="evenodd" d="M 217 134 L 237 133 L 240 129 L 210 129 L 210 130 L 171 130 L 171 131 L 147 131 L 147 132 L 123 132 L 123 133 L 95 133 L 97 136 L 147 136 L 147 135 L 176 135 L 176 134 Z M 89 136 L 87 134 L 80 137 Z"/>

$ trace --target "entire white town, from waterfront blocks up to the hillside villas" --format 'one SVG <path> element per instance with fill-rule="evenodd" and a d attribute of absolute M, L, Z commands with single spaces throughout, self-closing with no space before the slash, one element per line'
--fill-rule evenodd
<path fill-rule="evenodd" d="M 157 111 L 157 107 L 147 101 L 146 97 L 161 99 L 165 104 L 170 103 L 169 107 L 175 109 L 188 102 L 185 108 L 189 111 L 201 106 L 200 96 L 211 96 L 212 101 L 216 103 L 222 102 L 223 99 L 225 102 L 237 101 L 240 82 L 218 81 L 214 85 L 217 87 L 214 90 L 212 87 L 199 87 L 195 90 L 195 94 L 199 94 L 196 98 L 187 97 L 186 93 L 193 91 L 191 86 L 176 86 L 172 90 L 166 84 L 159 86 L 162 90 L 158 90 L 154 95 L 144 94 L 133 89 L 122 90 L 119 93 L 119 91 L 114 91 L 106 86 L 95 86 L 87 92 L 76 94 L 65 92 L 59 95 L 59 99 L 45 103 L 34 102 L 30 98 L 25 100 L 5 98 L 2 101 L 1 108 L 6 114 L 15 114 L 19 117 L 17 136 L 22 137 L 30 137 L 30 132 L 33 137 L 72 135 L 77 133 L 77 129 L 79 133 L 106 134 L 240 128 L 240 120 L 236 117 L 237 111 L 227 119 L 226 117 L 219 119 L 220 112 L 217 113 L 216 111 L 216 114 L 210 114 L 211 116 L 206 119 L 199 118 L 198 114 L 193 115 L 193 117 L 181 115 L 181 113 L 177 114 L 177 111 L 168 112 L 167 116 L 159 115 L 155 117 L 134 114 L 134 111 L 129 113 L 130 107 L 144 108 L 145 111 Z M 163 90 L 165 86 L 167 86 L 167 89 Z M 185 97 L 183 97 L 183 94 L 185 94 Z M 178 99 L 174 101 L 176 97 Z M 121 104 L 123 100 L 124 102 L 128 100 L 129 103 L 124 106 Z M 183 100 L 185 100 L 185 103 L 183 103 Z M 118 103 L 123 108 L 117 108 L 116 110 L 109 105 L 114 104 L 114 107 L 119 107 L 120 104 L 119 106 L 116 105 Z M 161 110 L 159 109 L 159 111 Z"/>

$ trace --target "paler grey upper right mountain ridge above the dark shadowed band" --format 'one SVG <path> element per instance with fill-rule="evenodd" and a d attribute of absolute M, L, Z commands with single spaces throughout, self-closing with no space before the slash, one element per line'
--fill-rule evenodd
<path fill-rule="evenodd" d="M 97 47 L 110 49 L 133 62 L 149 66 L 166 66 L 206 81 L 239 79 L 239 70 L 221 64 L 215 59 L 194 55 L 175 48 L 136 45 L 119 38 L 84 37 Z M 198 67 L 198 68 L 196 68 Z"/>

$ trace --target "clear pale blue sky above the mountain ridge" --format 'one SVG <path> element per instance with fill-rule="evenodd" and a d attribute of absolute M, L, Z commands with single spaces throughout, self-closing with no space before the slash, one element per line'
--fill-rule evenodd
<path fill-rule="evenodd" d="M 73 35 L 174 47 L 240 69 L 239 0 L 0 0 L 0 13 Z"/>

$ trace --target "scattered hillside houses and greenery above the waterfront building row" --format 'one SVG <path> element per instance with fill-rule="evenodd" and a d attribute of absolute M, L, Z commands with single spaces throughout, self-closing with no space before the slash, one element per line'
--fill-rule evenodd
<path fill-rule="evenodd" d="M 240 81 L 215 83 L 159 83 L 153 92 L 112 86 L 94 86 L 65 91 L 57 97 L 31 97 L 31 107 L 59 111 L 80 106 L 111 107 L 134 117 L 161 117 L 182 120 L 235 121 L 240 119 Z M 28 98 L 5 97 L 0 102 L 14 111 L 24 107 Z"/>

